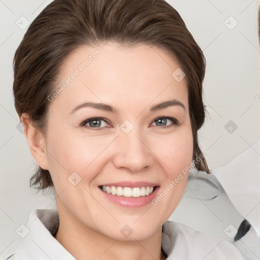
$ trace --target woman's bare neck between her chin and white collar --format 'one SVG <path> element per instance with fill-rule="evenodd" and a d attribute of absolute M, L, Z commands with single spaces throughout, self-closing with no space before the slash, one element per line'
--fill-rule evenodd
<path fill-rule="evenodd" d="M 67 214 L 68 213 L 68 214 Z M 59 211 L 59 228 L 55 239 L 76 259 L 163 260 L 161 226 L 143 240 L 116 240 L 90 229 L 68 211 Z"/>

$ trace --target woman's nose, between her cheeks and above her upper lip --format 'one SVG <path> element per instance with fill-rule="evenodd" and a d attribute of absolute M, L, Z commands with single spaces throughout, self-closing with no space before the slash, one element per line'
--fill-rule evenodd
<path fill-rule="evenodd" d="M 115 141 L 113 163 L 116 168 L 137 173 L 151 167 L 153 153 L 149 142 L 135 128 L 128 134 L 121 131 Z"/>

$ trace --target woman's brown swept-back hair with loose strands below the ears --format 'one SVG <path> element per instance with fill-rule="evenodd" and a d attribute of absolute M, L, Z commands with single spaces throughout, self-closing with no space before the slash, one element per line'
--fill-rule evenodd
<path fill-rule="evenodd" d="M 206 61 L 179 13 L 164 0 L 54 0 L 30 24 L 14 56 L 15 109 L 30 115 L 45 134 L 48 95 L 54 92 L 62 61 L 82 45 L 107 41 L 122 46 L 149 44 L 178 59 L 186 74 L 193 135 L 193 161 L 199 171 L 210 173 L 198 143 L 205 120 L 203 81 Z M 198 161 L 198 158 L 200 160 Z M 38 191 L 53 187 L 48 170 L 30 178 Z"/>

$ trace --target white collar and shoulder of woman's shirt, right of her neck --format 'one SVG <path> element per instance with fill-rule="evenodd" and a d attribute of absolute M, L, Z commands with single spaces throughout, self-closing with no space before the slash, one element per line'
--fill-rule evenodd
<path fill-rule="evenodd" d="M 228 241 L 175 221 L 167 221 L 163 225 L 162 247 L 169 259 L 245 260 L 241 252 Z"/>

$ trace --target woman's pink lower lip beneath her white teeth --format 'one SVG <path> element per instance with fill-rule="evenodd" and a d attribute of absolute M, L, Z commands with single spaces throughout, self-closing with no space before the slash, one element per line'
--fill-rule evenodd
<path fill-rule="evenodd" d="M 101 188 L 98 189 L 106 196 L 107 199 L 119 206 L 126 208 L 139 208 L 151 203 L 151 201 L 156 197 L 159 186 L 156 186 L 150 195 L 137 198 L 112 195 L 111 193 L 103 191 Z"/>

